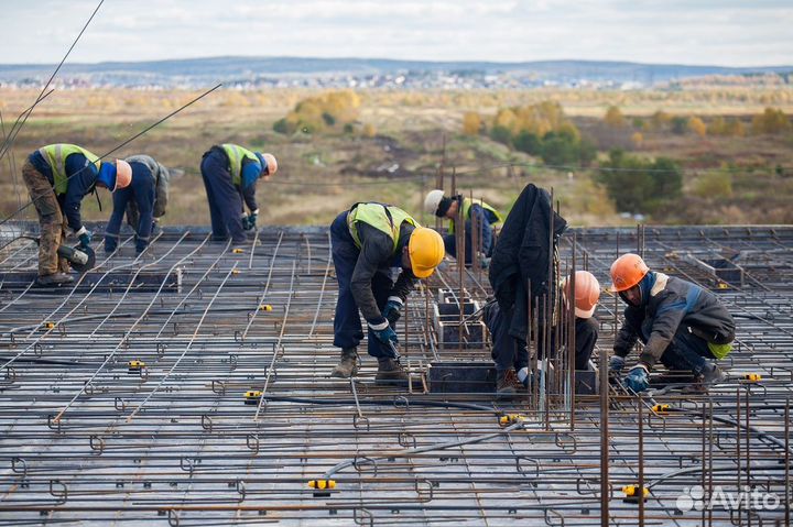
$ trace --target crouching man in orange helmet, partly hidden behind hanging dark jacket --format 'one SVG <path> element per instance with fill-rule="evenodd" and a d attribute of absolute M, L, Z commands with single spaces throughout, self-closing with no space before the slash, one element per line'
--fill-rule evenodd
<path fill-rule="evenodd" d="M 569 298 L 569 285 L 565 278 L 561 284 L 565 306 Z M 598 322 L 594 317 L 600 298 L 600 284 L 588 271 L 576 271 L 575 279 L 575 369 L 588 370 L 598 338 Z M 507 317 L 502 316 L 499 305 L 491 301 L 485 306 L 485 323 L 492 336 L 492 359 L 496 363 L 496 393 L 500 397 L 511 396 L 515 386 L 528 387 L 531 383 L 529 372 L 529 352 L 524 340 L 509 334 Z M 556 334 L 551 332 L 552 339 Z M 555 344 L 552 342 L 552 348 Z M 542 351 L 539 358 L 542 358 Z M 519 384 L 520 383 L 520 384 Z"/>

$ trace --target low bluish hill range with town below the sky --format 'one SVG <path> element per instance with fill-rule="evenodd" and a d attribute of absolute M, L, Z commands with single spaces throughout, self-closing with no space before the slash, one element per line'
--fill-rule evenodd
<path fill-rule="evenodd" d="M 48 78 L 55 65 L 0 65 L 0 83 L 35 84 Z M 710 75 L 790 74 L 793 66 L 724 67 L 678 64 L 639 64 L 607 61 L 539 61 L 525 63 L 427 62 L 379 58 L 302 58 L 302 57 L 210 57 L 153 62 L 107 62 L 66 64 L 58 78 L 64 83 L 110 86 L 206 85 L 222 81 L 230 85 L 306 84 L 306 79 L 371 79 L 383 76 L 421 78 L 422 85 L 433 78 L 450 75 L 457 78 L 517 80 L 522 85 L 577 83 L 634 83 L 655 85 Z M 787 75 L 786 78 L 790 76 Z M 302 80 L 301 80 L 302 79 Z M 482 83 L 487 84 L 485 80 Z M 349 83 L 356 86 L 354 81 Z M 446 83 L 448 84 L 448 81 Z M 405 84 L 409 86 L 410 84 Z M 476 85 L 476 83 L 475 83 Z M 377 86 L 377 84 L 372 84 Z M 487 86 L 485 86 L 487 87 Z"/>

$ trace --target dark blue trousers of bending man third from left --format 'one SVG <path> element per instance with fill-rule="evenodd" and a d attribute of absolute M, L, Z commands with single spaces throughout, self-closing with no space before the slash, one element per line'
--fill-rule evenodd
<path fill-rule="evenodd" d="M 210 150 L 202 160 L 202 177 L 209 201 L 209 216 L 213 226 L 213 240 L 228 240 L 245 243 L 247 238 L 242 229 L 242 198 L 228 168 L 228 158 L 222 152 Z"/>

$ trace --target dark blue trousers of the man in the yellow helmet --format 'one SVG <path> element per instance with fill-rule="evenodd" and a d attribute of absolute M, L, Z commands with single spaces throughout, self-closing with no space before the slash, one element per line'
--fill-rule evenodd
<path fill-rule="evenodd" d="M 358 305 L 350 289 L 350 281 L 360 251 L 355 245 L 352 235 L 349 233 L 346 211 L 338 215 L 330 224 L 330 242 L 333 244 L 336 279 L 339 285 L 339 296 L 336 301 L 336 316 L 334 318 L 334 345 L 341 349 L 357 348 L 360 341 L 363 340 L 363 331 Z M 382 273 L 376 273 L 371 287 L 377 305 L 382 311 L 393 287 L 393 282 Z M 371 329 L 368 330 L 368 352 L 371 356 L 378 359 L 392 356 L 391 350 L 385 350 L 385 344 L 378 340 Z"/>

